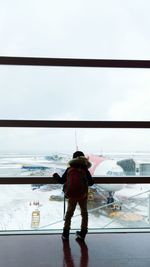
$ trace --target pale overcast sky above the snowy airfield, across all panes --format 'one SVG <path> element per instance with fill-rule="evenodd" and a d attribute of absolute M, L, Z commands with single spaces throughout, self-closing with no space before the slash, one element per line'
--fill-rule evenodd
<path fill-rule="evenodd" d="M 0 0 L 0 55 L 150 59 L 148 0 Z M 150 120 L 148 69 L 0 66 L 0 119 Z M 74 129 L 1 129 L 1 151 L 75 149 Z M 77 130 L 85 151 L 150 150 L 149 130 Z"/>

